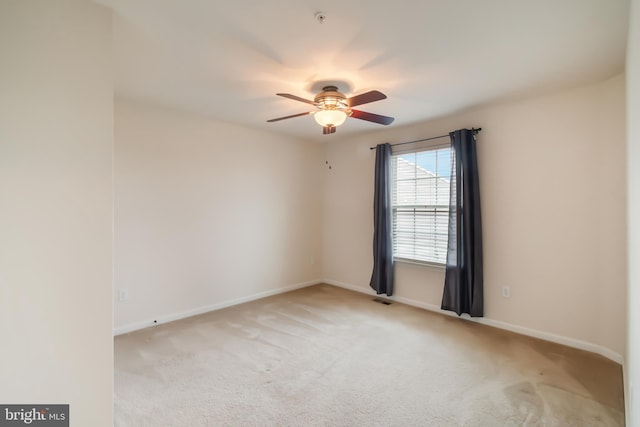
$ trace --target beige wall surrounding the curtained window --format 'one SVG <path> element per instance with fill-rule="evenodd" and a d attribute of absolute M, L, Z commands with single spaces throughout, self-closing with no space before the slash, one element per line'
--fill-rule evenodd
<path fill-rule="evenodd" d="M 482 127 L 485 315 L 499 326 L 622 360 L 625 351 L 624 76 L 328 143 L 324 275 L 369 290 L 374 152 Z M 396 296 L 439 307 L 444 273 L 397 264 Z M 502 286 L 511 298 L 501 296 Z M 540 333 L 538 333 L 540 332 Z"/>

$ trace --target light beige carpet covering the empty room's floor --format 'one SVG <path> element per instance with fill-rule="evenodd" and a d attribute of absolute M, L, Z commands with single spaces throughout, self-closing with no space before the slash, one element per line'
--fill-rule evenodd
<path fill-rule="evenodd" d="M 603 357 L 328 285 L 115 338 L 115 425 L 620 426 Z"/>

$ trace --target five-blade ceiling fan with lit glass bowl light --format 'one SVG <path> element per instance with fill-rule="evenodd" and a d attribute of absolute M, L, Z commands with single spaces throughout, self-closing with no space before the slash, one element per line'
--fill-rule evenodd
<path fill-rule="evenodd" d="M 294 101 L 304 102 L 316 107 L 316 110 L 307 111 L 305 113 L 294 114 L 291 116 L 278 117 L 277 119 L 267 120 L 267 122 L 277 122 L 285 119 L 292 119 L 294 117 L 313 115 L 316 122 L 322 126 L 322 134 L 328 135 L 335 133 L 336 126 L 340 126 L 347 117 L 353 117 L 355 119 L 366 120 L 368 122 L 379 123 L 381 125 L 389 125 L 393 122 L 393 117 L 381 116 L 379 114 L 367 113 L 366 111 L 354 110 L 352 107 L 368 104 L 370 102 L 380 101 L 386 99 L 387 96 L 377 90 L 365 92 L 360 95 L 347 98 L 342 93 L 338 92 L 336 86 L 325 86 L 322 88 L 322 92 L 317 94 L 313 101 L 300 98 L 299 96 L 291 95 L 289 93 L 277 93 L 276 95 L 284 98 L 293 99 Z"/>

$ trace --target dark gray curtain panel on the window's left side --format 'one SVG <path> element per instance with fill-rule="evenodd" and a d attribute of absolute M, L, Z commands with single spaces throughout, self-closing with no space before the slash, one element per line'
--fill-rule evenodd
<path fill-rule="evenodd" d="M 391 145 L 376 147 L 373 194 L 373 273 L 371 287 L 378 294 L 393 294 L 393 243 L 391 235 Z"/>

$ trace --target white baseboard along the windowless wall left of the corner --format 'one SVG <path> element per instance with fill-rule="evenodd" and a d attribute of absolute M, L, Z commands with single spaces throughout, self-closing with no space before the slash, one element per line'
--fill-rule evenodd
<path fill-rule="evenodd" d="M 222 301 L 216 304 L 206 305 L 203 307 L 194 308 L 192 310 L 186 310 L 179 313 L 172 313 L 159 316 L 151 320 L 143 320 L 141 322 L 130 323 L 128 325 L 120 326 L 113 329 L 113 335 L 122 335 L 129 332 L 138 331 L 140 329 L 157 326 L 163 323 L 173 322 L 180 319 L 185 319 L 191 316 L 197 316 L 198 314 L 208 313 L 210 311 L 220 310 L 223 308 L 231 307 L 233 305 L 242 304 L 249 301 L 255 301 L 257 299 L 270 297 L 277 294 L 283 294 L 285 292 L 294 291 L 296 289 L 306 288 L 307 286 L 317 285 L 323 283 L 322 280 L 310 280 L 308 282 L 296 283 L 295 285 L 285 286 L 282 288 L 272 289 L 269 291 L 258 292 L 257 294 L 248 295 L 246 297 L 234 298 L 227 301 Z"/>

